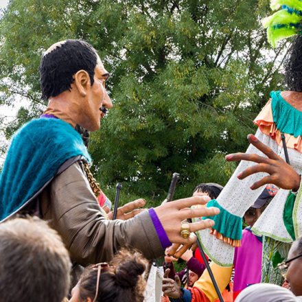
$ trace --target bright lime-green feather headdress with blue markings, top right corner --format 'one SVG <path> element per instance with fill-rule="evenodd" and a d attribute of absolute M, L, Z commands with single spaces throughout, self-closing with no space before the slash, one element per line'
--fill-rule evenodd
<path fill-rule="evenodd" d="M 263 19 L 262 25 L 267 27 L 268 42 L 272 47 L 278 40 L 302 34 L 302 0 L 271 0 L 270 8 L 278 12 Z"/>

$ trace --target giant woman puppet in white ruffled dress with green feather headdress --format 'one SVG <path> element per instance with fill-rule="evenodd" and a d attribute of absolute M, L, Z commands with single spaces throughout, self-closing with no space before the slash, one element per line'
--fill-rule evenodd
<path fill-rule="evenodd" d="M 281 275 L 276 266 L 287 256 L 290 243 L 302 235 L 302 190 L 299 190 L 302 171 L 302 1 L 271 0 L 270 6 L 272 10 L 278 10 L 263 21 L 270 43 L 275 46 L 277 40 L 297 35 L 285 66 L 284 82 L 289 91 L 272 91 L 270 100 L 254 121 L 259 127 L 255 137 L 282 159 L 281 134 L 284 133 L 290 165 L 294 169 L 292 184 L 279 183 L 285 189 L 279 190 L 253 227 L 257 235 L 264 235 L 262 281 L 280 283 Z M 251 136 L 249 140 L 255 142 L 255 137 Z M 246 150 L 247 154 L 264 156 L 253 143 Z M 255 159 L 257 155 L 253 156 Z M 248 160 L 253 160 L 253 156 Z M 244 157 L 230 155 L 227 159 Z M 241 161 L 217 200 L 209 202 L 209 207 L 220 208 L 220 214 L 212 218 L 216 222 L 213 229 L 200 231 L 199 235 L 207 255 L 220 266 L 232 266 L 234 246 L 240 246 L 242 238 L 242 216 L 262 192 L 264 183 L 275 183 L 274 175 L 264 173 L 270 173 L 272 169 L 271 166 L 268 168 L 266 160 L 257 165 L 257 171 L 252 168 L 255 163 Z M 258 159 L 255 161 L 259 162 Z M 248 177 L 246 171 L 249 171 Z M 290 189 L 297 189 L 298 196 Z"/>

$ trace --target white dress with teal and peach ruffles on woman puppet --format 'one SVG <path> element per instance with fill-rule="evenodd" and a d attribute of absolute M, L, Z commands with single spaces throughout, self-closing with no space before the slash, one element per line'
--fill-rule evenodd
<path fill-rule="evenodd" d="M 254 121 L 259 126 L 255 136 L 284 159 L 281 141 L 281 132 L 283 132 L 290 165 L 297 173 L 301 174 L 302 113 L 286 102 L 280 91 L 272 91 L 270 96 L 271 100 L 268 101 Z M 265 156 L 252 145 L 248 146 L 246 152 Z M 217 206 L 221 210 L 218 216 L 213 217 L 213 220 L 216 221 L 215 226 L 211 231 L 205 229 L 199 232 L 202 246 L 207 255 L 220 266 L 232 266 L 234 246 L 240 246 L 242 238 L 242 217 L 264 189 L 264 187 L 260 187 L 251 190 L 250 186 L 266 176 L 265 173 L 260 172 L 248 176 L 242 181 L 237 178 L 240 172 L 253 165 L 255 163 L 250 161 L 240 162 L 217 200 L 209 202 L 209 206 Z M 289 190 L 280 189 L 253 227 L 254 233 L 266 236 L 264 259 L 266 258 L 266 263 L 270 264 L 268 266 L 273 264 L 275 267 L 277 262 L 286 257 L 288 244 L 302 235 L 302 202 L 300 202 L 302 189 L 300 189 L 297 198 L 290 196 L 289 193 Z M 274 243 L 272 240 L 277 240 L 283 244 Z M 268 269 L 266 268 L 266 270 Z M 273 273 L 268 275 L 273 275 Z M 264 276 L 267 276 L 267 271 L 264 272 Z M 268 279 L 270 277 L 262 281 L 268 281 Z"/>

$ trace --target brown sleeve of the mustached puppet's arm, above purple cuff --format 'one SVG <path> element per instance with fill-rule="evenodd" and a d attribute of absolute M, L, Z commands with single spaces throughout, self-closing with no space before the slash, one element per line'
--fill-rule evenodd
<path fill-rule="evenodd" d="M 148 259 L 164 255 L 148 211 L 126 221 L 104 218 L 78 162 L 56 176 L 39 199 L 43 219 L 82 266 L 110 260 L 121 246 L 137 248 Z"/>

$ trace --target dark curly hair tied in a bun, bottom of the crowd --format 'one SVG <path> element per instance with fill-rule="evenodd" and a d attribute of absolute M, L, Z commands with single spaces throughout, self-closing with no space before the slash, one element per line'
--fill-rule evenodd
<path fill-rule="evenodd" d="M 142 274 L 147 260 L 140 253 L 123 249 L 100 275 L 97 302 L 142 302 L 146 281 Z M 97 270 L 86 268 L 80 278 L 80 299 L 95 297 Z"/>

